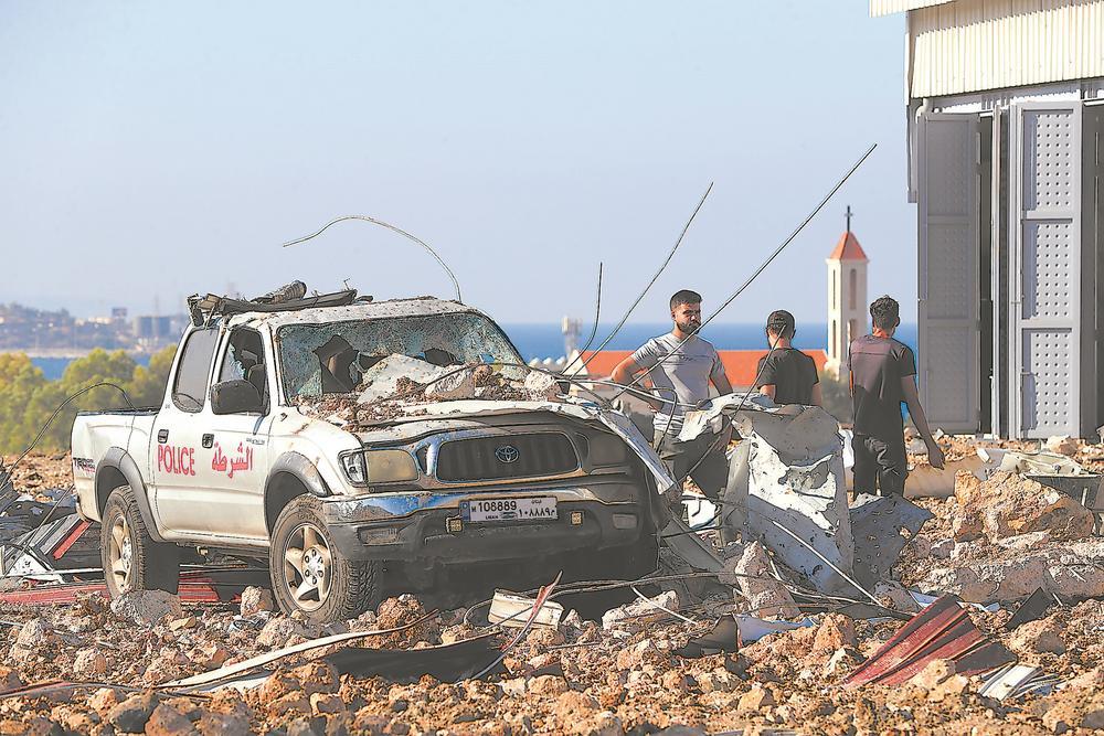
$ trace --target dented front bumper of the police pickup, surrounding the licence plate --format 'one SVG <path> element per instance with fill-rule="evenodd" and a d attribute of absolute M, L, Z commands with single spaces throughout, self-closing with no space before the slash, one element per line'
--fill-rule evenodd
<path fill-rule="evenodd" d="M 470 523 L 461 518 L 461 501 L 527 497 L 554 497 L 556 519 Z M 604 501 L 585 487 L 395 493 L 328 500 L 322 508 L 338 550 L 350 559 L 505 562 L 623 547 L 655 533 L 646 504 Z"/>

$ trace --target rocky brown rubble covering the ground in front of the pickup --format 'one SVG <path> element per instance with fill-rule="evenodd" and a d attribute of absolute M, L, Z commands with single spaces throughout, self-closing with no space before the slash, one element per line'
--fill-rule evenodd
<path fill-rule="evenodd" d="M 948 457 L 973 452 L 962 438 L 941 442 L 952 450 Z M 1098 446 L 1073 442 L 1064 450 L 1085 470 L 1104 470 Z M 496 632 L 497 652 L 519 629 L 480 628 L 486 611 L 473 609 L 469 622 L 463 609 L 439 611 L 394 633 L 279 659 L 268 664 L 270 674 L 243 683 L 244 692 L 223 686 L 182 694 L 183 687 L 164 683 L 323 636 L 400 627 L 426 611 L 416 598 L 402 596 L 358 619 L 320 628 L 275 612 L 262 588 L 246 588 L 240 600 L 224 604 L 190 604 L 160 591 L 128 594 L 114 604 L 96 594 L 52 606 L 0 604 L 0 734 L 1104 729 L 1104 537 L 1093 534 L 1092 514 L 1016 474 L 996 472 L 984 481 L 966 476 L 956 479 L 948 499 L 916 500 L 933 518 L 905 544 L 894 579 L 875 591 L 904 614 L 920 608 L 905 588 L 977 604 L 965 609 L 977 629 L 1060 686 L 1004 700 L 983 696 L 978 675 L 958 674 L 955 662 L 944 659 L 904 684 L 847 686 L 848 675 L 890 641 L 905 617 L 799 612 L 785 586 L 760 576 L 776 563 L 762 545 L 722 547 L 718 541 L 714 550 L 725 559 L 735 597 L 680 604 L 686 586 L 649 586 L 641 595 L 657 596 L 662 588 L 652 599 L 659 602 L 630 604 L 607 612 L 603 623 L 571 614 L 573 596 L 563 595 L 556 601 L 566 615 L 556 628 L 533 627 L 491 674 L 457 683 L 429 675 L 338 674 L 337 660 L 328 658 L 348 647 L 416 652 L 486 631 Z M 13 484 L 31 494 L 68 487 L 68 457 L 32 456 Z M 1038 588 L 1049 596 L 1044 610 L 1009 630 L 1013 611 Z M 751 612 L 803 626 L 745 641 L 739 651 L 694 652 L 693 640 L 734 608 L 758 608 Z M 18 693 L 52 681 L 85 684 Z"/>

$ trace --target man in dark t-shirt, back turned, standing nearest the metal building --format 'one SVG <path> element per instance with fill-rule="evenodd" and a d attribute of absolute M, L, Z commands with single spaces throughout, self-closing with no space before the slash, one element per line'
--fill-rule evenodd
<path fill-rule="evenodd" d="M 912 349 L 893 339 L 901 324 L 900 307 L 890 297 L 870 305 L 871 334 L 851 342 L 848 366 L 851 371 L 851 401 L 854 406 L 854 494 L 904 495 L 909 474 L 904 448 L 904 418 L 901 404 L 907 404 L 920 436 L 927 445 L 927 460 L 943 469 L 943 450 L 927 427 L 924 407 L 916 392 L 916 358 Z"/>

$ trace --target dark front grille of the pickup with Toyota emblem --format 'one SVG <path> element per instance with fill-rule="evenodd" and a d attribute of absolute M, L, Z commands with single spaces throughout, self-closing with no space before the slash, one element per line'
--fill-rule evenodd
<path fill-rule="evenodd" d="M 559 476 L 577 468 L 575 448 L 560 433 L 455 439 L 444 442 L 437 452 L 437 479 L 442 481 Z"/>

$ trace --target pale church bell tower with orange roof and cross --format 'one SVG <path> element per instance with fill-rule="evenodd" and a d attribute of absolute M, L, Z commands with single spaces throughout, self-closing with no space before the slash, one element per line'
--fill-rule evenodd
<path fill-rule="evenodd" d="M 867 264 L 859 239 L 851 232 L 851 207 L 847 231 L 828 256 L 828 362 L 826 370 L 839 375 L 851 341 L 867 332 Z"/>

